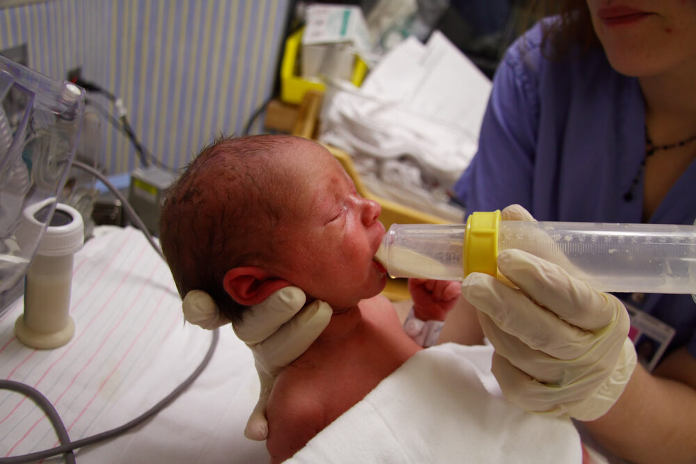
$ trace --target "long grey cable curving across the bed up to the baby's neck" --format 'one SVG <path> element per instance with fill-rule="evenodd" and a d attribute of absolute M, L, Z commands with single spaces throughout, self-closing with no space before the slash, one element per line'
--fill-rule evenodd
<path fill-rule="evenodd" d="M 44 451 L 36 451 L 35 453 L 30 453 L 30 454 L 23 454 L 22 456 L 10 456 L 8 458 L 0 458 L 0 463 L 2 464 L 18 464 L 18 463 L 28 463 L 29 461 L 38 461 L 40 459 L 45 459 L 45 458 L 50 458 L 52 456 L 56 456 L 58 454 L 64 454 L 68 453 L 69 451 L 72 451 L 73 449 L 81 448 L 81 447 L 86 447 L 88 445 L 94 445 L 95 443 L 102 442 L 104 440 L 111 440 L 111 438 L 116 438 L 118 435 L 121 435 L 122 433 L 125 433 L 131 429 L 134 429 L 134 427 L 139 426 L 146 420 L 150 419 L 150 417 L 156 415 L 159 413 L 159 411 L 163 410 L 166 406 L 168 406 L 169 403 L 174 401 L 184 390 L 186 390 L 193 381 L 198 378 L 201 372 L 203 372 L 203 369 L 207 367 L 208 363 L 210 362 L 210 359 L 212 358 L 213 353 L 215 352 L 215 348 L 217 346 L 218 340 L 220 338 L 220 333 L 218 329 L 215 329 L 213 331 L 212 335 L 212 340 L 210 342 L 210 346 L 208 348 L 208 351 L 205 353 L 205 357 L 203 358 L 203 361 L 200 362 L 198 367 L 196 368 L 193 373 L 186 378 L 178 387 L 176 387 L 170 394 L 168 394 L 164 399 L 159 401 L 159 403 L 155 404 L 155 406 L 152 406 L 152 408 L 148 409 L 145 411 L 145 413 L 139 415 L 135 419 L 133 419 L 130 422 L 127 422 L 126 424 L 123 424 L 120 427 L 116 427 L 116 429 L 111 429 L 109 431 L 105 431 L 102 433 L 97 433 L 97 435 L 92 435 L 91 437 L 87 438 L 82 438 L 81 440 L 77 440 L 74 442 L 69 442 L 66 445 L 61 445 L 52 449 L 45 449 Z M 10 382 L 10 381 L 0 381 L 0 388 L 5 388 L 5 383 Z M 48 401 L 46 397 L 44 397 L 38 390 L 34 390 L 35 394 L 38 395 L 38 397 L 41 397 L 42 400 L 40 401 Z M 27 396 L 31 397 L 32 399 L 35 399 L 33 397 L 33 393 L 28 394 Z M 50 403 L 50 402 L 49 402 Z"/>

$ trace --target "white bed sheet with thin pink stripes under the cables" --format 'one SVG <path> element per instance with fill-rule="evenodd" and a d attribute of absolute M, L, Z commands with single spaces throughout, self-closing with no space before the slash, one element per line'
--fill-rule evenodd
<path fill-rule="evenodd" d="M 14 335 L 21 298 L 0 317 L 1 378 L 42 392 L 71 440 L 113 429 L 166 397 L 210 346 L 212 333 L 184 323 L 166 264 L 136 229 L 97 227 L 75 255 L 74 337 L 54 350 Z M 264 442 L 244 438 L 258 399 L 253 358 L 229 326 L 200 377 L 170 406 L 119 438 L 76 451 L 79 463 L 264 463 Z M 58 445 L 31 399 L 0 390 L 0 457 Z M 63 461 L 53 458 L 50 461 Z"/>

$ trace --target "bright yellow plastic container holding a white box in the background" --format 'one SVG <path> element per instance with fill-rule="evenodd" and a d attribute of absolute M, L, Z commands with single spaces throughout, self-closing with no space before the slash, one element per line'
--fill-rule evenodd
<path fill-rule="evenodd" d="M 285 103 L 299 104 L 309 90 L 324 92 L 326 86 L 323 83 L 302 79 L 296 72 L 296 63 L 299 58 L 299 49 L 302 43 L 304 29 L 290 35 L 285 40 L 283 62 L 280 63 L 280 99 Z M 356 59 L 351 82 L 360 86 L 367 74 L 367 64 L 358 56 Z"/>

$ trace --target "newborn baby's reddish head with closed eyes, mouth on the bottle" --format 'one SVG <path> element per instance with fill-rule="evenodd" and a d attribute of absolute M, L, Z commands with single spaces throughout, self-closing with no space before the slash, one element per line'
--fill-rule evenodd
<path fill-rule="evenodd" d="M 162 206 L 160 239 L 179 294 L 206 291 L 232 321 L 287 285 L 338 307 L 379 293 L 384 228 L 338 161 L 293 136 L 205 147 Z"/>

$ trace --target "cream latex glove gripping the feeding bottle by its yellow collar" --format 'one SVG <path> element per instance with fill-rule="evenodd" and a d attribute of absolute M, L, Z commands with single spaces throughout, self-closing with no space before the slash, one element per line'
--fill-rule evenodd
<path fill-rule="evenodd" d="M 515 206 L 503 218 L 531 216 Z M 480 310 L 505 397 L 534 413 L 585 421 L 604 415 L 635 367 L 624 305 L 521 250 L 500 252 L 498 271 L 517 288 L 471 273 L 461 294 Z"/>

